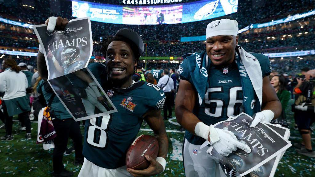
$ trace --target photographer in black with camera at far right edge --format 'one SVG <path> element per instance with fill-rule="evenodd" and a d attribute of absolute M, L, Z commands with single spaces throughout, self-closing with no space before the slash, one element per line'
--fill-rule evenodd
<path fill-rule="evenodd" d="M 298 95 L 298 98 L 295 100 L 293 110 L 296 116 L 296 124 L 302 136 L 301 148 L 297 149 L 297 152 L 307 157 L 315 157 L 315 152 L 312 151 L 310 134 L 310 126 L 315 117 L 315 70 L 307 71 L 305 80 L 297 78 L 297 82 L 293 94 Z"/>

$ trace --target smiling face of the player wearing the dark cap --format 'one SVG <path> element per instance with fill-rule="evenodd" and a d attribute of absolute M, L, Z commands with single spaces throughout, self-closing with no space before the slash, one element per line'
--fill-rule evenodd
<path fill-rule="evenodd" d="M 128 43 L 111 42 L 106 51 L 107 73 L 115 85 L 122 85 L 131 79 L 137 66 L 133 51 Z"/>

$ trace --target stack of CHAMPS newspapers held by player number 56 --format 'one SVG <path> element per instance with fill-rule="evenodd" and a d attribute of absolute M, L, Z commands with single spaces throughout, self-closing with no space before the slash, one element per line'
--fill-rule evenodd
<path fill-rule="evenodd" d="M 292 146 L 288 141 L 289 129 L 269 123 L 259 123 L 251 128 L 252 120 L 249 115 L 241 113 L 237 117 L 230 117 L 214 125 L 215 128 L 231 131 L 239 141 L 243 141 L 251 148 L 250 153 L 237 149 L 227 157 L 219 154 L 212 146 L 208 148 L 207 153 L 221 163 L 227 176 L 232 173 L 240 176 L 249 173 L 252 176 L 273 176 L 284 151 Z M 209 141 L 203 143 L 200 148 L 207 145 Z"/>

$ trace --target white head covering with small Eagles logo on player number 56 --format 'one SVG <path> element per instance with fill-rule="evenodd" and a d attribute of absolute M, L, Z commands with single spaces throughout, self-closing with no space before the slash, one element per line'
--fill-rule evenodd
<path fill-rule="evenodd" d="M 221 19 L 208 24 L 206 29 L 206 38 L 221 35 L 237 36 L 238 23 L 236 20 Z"/>

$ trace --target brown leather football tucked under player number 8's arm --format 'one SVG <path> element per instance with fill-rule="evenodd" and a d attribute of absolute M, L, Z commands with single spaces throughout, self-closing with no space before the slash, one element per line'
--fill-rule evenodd
<path fill-rule="evenodd" d="M 148 168 L 150 162 L 146 160 L 146 155 L 156 159 L 158 149 L 158 142 L 154 136 L 141 134 L 127 151 L 127 169 L 143 170 Z"/>

